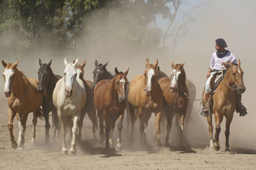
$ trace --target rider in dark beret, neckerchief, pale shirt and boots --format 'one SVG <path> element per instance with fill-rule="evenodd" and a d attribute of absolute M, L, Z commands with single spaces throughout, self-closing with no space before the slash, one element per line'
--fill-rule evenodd
<path fill-rule="evenodd" d="M 213 77 L 213 75 L 216 72 L 221 72 L 223 70 L 223 74 L 225 74 L 226 70 L 224 66 L 227 66 L 227 62 L 231 62 L 235 65 L 237 65 L 237 61 L 235 58 L 235 55 L 232 54 L 230 51 L 225 50 L 225 47 L 227 47 L 227 44 L 224 39 L 216 39 L 215 40 L 215 49 L 217 50 L 212 54 L 212 59 L 209 67 L 209 71 L 206 74 L 207 81 L 205 83 L 205 88 L 204 88 L 204 93 L 205 93 L 205 98 L 206 98 L 206 105 L 204 106 L 201 115 L 202 116 L 209 116 L 208 113 L 210 113 L 209 109 L 212 109 L 213 107 L 213 101 L 212 98 L 210 98 L 210 95 L 213 93 L 211 87 L 210 87 L 210 82 Z M 214 90 L 214 89 L 213 89 Z M 246 108 L 243 106 L 241 103 L 241 94 L 236 94 L 236 112 L 240 113 L 240 116 L 244 116 L 247 114 Z M 210 98 L 210 99 L 209 99 Z"/>

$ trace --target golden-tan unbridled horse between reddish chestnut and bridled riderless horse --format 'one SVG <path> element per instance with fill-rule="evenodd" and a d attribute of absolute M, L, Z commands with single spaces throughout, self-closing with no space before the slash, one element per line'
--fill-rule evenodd
<path fill-rule="evenodd" d="M 128 103 L 131 114 L 131 138 L 134 136 L 134 122 L 137 117 L 140 121 L 140 142 L 146 143 L 146 130 L 148 120 L 151 113 L 155 113 L 155 132 L 157 134 L 157 145 L 161 146 L 160 140 L 160 123 L 163 106 L 163 92 L 157 82 L 156 68 L 158 60 L 155 65 L 148 64 L 146 60 L 146 70 L 144 75 L 136 76 L 132 79 L 128 95 Z M 136 111 L 136 113 L 135 113 Z"/>

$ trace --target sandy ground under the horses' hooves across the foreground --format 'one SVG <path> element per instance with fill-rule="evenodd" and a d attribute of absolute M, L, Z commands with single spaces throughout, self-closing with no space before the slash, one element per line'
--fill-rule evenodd
<path fill-rule="evenodd" d="M 116 153 L 114 148 L 105 149 L 97 139 L 92 138 L 91 123 L 85 118 L 82 129 L 82 141 L 77 144 L 77 155 L 60 155 L 61 143 L 44 142 L 44 121 L 38 120 L 36 126 L 36 144 L 30 142 L 32 132 L 32 114 L 27 121 L 25 133 L 25 150 L 19 151 L 10 147 L 7 124 L 7 102 L 1 95 L 0 119 L 0 169 L 256 169 L 256 148 L 232 148 L 231 154 L 208 149 L 208 142 L 194 143 L 191 149 L 181 149 L 177 146 L 170 148 L 156 146 L 155 135 L 149 132 L 148 146 L 138 144 L 138 139 L 131 145 L 128 142 L 127 131 L 123 130 L 123 150 Z M 153 120 L 154 117 L 152 116 Z M 153 124 L 148 131 L 153 131 Z M 135 131 L 139 131 L 136 127 Z M 17 120 L 14 120 L 14 136 L 18 137 Z M 51 130 L 52 134 L 52 130 Z M 98 136 L 98 131 L 97 134 Z M 137 134 L 138 135 L 138 134 Z M 113 135 L 116 144 L 117 130 Z M 152 139 L 152 140 L 151 140 Z M 222 140 L 224 140 L 222 138 Z M 162 136 L 162 144 L 164 136 Z M 67 137 L 67 149 L 70 139 Z"/>

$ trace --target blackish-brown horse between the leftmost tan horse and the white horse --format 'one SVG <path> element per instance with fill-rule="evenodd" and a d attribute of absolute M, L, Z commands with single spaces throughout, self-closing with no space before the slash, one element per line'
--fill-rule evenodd
<path fill-rule="evenodd" d="M 44 113 L 44 119 L 45 119 L 45 141 L 46 143 L 49 142 L 50 135 L 49 135 L 49 129 L 50 129 L 50 123 L 49 123 L 49 113 L 52 112 L 52 125 L 54 126 L 54 132 L 52 135 L 52 139 L 55 139 L 56 137 L 56 130 L 58 130 L 58 136 L 60 135 L 59 131 L 59 121 L 58 121 L 58 115 L 57 110 L 52 102 L 52 94 L 53 90 L 55 88 L 55 85 L 59 79 L 62 77 L 59 75 L 55 75 L 52 72 L 51 69 L 52 60 L 46 64 L 42 64 L 41 59 L 39 59 L 39 65 L 40 68 L 38 70 L 38 80 L 39 85 L 37 87 L 37 91 L 39 93 L 44 94 L 44 101 L 42 104 L 42 109 Z"/>

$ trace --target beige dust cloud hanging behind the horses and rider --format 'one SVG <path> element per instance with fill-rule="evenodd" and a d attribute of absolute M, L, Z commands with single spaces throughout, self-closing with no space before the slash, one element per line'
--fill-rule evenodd
<path fill-rule="evenodd" d="M 254 4 L 254 5 L 252 5 Z M 86 19 L 90 18 L 95 20 L 88 27 L 90 31 L 80 35 L 79 45 L 73 51 L 56 51 L 51 48 L 39 49 L 36 53 L 30 53 L 28 56 L 21 58 L 18 68 L 25 72 L 28 77 L 37 79 L 37 71 L 39 69 L 38 60 L 41 58 L 43 63 L 48 63 L 52 59 L 52 70 L 55 74 L 63 75 L 64 70 L 64 57 L 67 57 L 68 62 L 78 58 L 81 64 L 86 60 L 85 75 L 86 80 L 93 80 L 94 61 L 97 59 L 99 63 L 106 63 L 109 61 L 107 70 L 114 72 L 117 67 L 119 71 L 125 71 L 130 67 L 128 73 L 128 80 L 138 74 L 143 74 L 145 70 L 146 58 L 149 58 L 150 63 L 155 63 L 159 59 L 159 66 L 163 72 L 170 75 L 171 66 L 173 61 L 175 64 L 184 61 L 187 79 L 191 80 L 196 89 L 196 98 L 201 98 L 202 89 L 206 81 L 206 73 L 208 71 L 212 53 L 215 52 L 214 44 L 215 39 L 223 38 L 227 42 L 227 50 L 231 51 L 237 59 L 241 60 L 241 68 L 244 71 L 244 84 L 246 91 L 242 95 L 242 102 L 247 108 L 248 115 L 239 117 L 239 113 L 234 113 L 234 118 L 231 123 L 230 129 L 230 147 L 231 148 L 253 148 L 255 135 L 255 119 L 256 115 L 253 111 L 255 101 L 255 76 L 253 68 L 255 67 L 256 57 L 254 56 L 254 46 L 256 45 L 255 28 L 255 15 L 254 6 L 255 1 L 209 1 L 204 7 L 204 16 L 201 21 L 194 23 L 190 28 L 190 36 L 181 39 L 174 53 L 171 54 L 169 50 L 162 50 L 160 47 L 144 46 L 143 48 L 135 48 L 134 44 L 129 42 L 122 42 L 118 39 L 109 39 L 109 35 L 105 34 L 105 30 L 109 26 L 109 22 L 115 22 L 117 25 L 128 26 L 123 15 L 116 16 L 115 20 L 104 20 L 100 12 L 94 12 L 93 15 L 85 16 Z M 101 18 L 101 19 L 97 19 Z M 120 28 L 120 27 L 116 27 Z M 112 28 L 111 33 L 120 32 Z M 129 27 L 132 30 L 132 27 Z M 101 32 L 102 31 L 102 32 Z M 90 39 L 91 41 L 89 41 Z M 90 43 L 88 43 L 90 42 Z M 7 63 L 15 62 L 15 59 L 9 59 L 2 56 Z M 3 69 L 3 68 L 2 68 Z M 4 83 L 1 79 L 1 89 Z M 209 145 L 208 123 L 206 118 L 199 114 L 194 113 L 199 109 L 200 102 L 194 102 L 190 119 L 185 119 L 185 136 L 191 147 L 202 147 Z M 3 105 L 3 104 L 2 104 Z M 6 103 L 4 103 L 6 105 Z M 125 113 L 126 114 L 126 113 Z M 126 116 L 125 116 L 126 119 Z M 123 141 L 129 139 L 129 131 L 126 127 L 126 120 L 124 119 Z M 91 127 L 89 119 L 84 120 L 85 127 Z M 164 121 L 164 120 L 163 120 Z M 135 140 L 139 140 L 139 126 L 136 123 Z M 214 119 L 213 126 L 215 127 Z M 225 118 L 221 124 L 220 145 L 222 148 L 225 146 Z M 215 133 L 215 129 L 214 129 Z M 161 141 L 165 142 L 165 129 L 162 129 Z M 177 144 L 179 140 L 179 130 L 173 123 L 171 130 L 171 144 Z M 116 144 L 117 128 L 115 128 L 113 141 Z M 147 142 L 153 146 L 156 144 L 155 135 L 155 117 L 152 115 L 148 128 L 147 128 Z"/>

